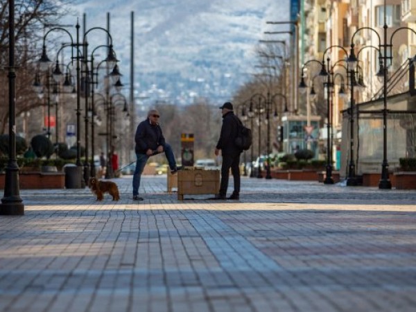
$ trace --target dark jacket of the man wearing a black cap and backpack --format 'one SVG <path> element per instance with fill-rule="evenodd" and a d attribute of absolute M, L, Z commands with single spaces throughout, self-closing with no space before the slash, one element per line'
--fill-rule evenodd
<path fill-rule="evenodd" d="M 227 112 L 223 116 L 223 126 L 221 127 L 220 139 L 216 148 L 221 150 L 223 155 L 237 155 L 242 152 L 234 143 L 239 132 L 239 121 L 234 112 Z"/>

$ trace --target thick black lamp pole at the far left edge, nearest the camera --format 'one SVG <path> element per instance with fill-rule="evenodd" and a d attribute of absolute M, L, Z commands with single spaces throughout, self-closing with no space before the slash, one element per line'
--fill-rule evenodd
<path fill-rule="evenodd" d="M 19 166 L 16 159 L 16 73 L 15 73 L 15 0 L 9 0 L 9 153 L 6 166 L 4 197 L 1 198 L 0 215 L 23 216 L 24 205 L 19 195 Z"/>

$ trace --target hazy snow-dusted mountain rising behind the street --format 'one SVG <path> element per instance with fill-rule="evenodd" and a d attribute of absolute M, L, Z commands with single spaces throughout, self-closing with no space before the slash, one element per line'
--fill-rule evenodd
<path fill-rule="evenodd" d="M 74 16 L 87 16 L 87 28 L 110 33 L 123 73 L 130 82 L 130 15 L 135 15 L 135 95 L 146 101 L 186 105 L 194 98 L 223 102 L 251 78 L 254 49 L 264 31 L 286 31 L 289 1 L 275 0 L 87 0 L 75 1 Z M 88 35 L 89 45 L 103 44 L 103 35 Z M 288 38 L 284 35 L 267 39 Z M 101 41 L 100 41 L 101 40 Z M 128 91 L 125 92 L 128 94 Z"/>

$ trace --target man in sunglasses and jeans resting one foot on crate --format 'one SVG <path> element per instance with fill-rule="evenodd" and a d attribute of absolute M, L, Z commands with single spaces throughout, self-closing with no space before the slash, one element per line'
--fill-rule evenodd
<path fill-rule="evenodd" d="M 137 162 L 133 175 L 133 200 L 143 200 L 143 198 L 139 197 L 140 178 L 150 156 L 164 152 L 166 159 L 168 159 L 171 173 L 175 174 L 177 171 L 175 155 L 173 155 L 171 146 L 166 143 L 158 121 L 159 112 L 150 110 L 148 118 L 141 121 L 137 126 L 135 135 Z"/>

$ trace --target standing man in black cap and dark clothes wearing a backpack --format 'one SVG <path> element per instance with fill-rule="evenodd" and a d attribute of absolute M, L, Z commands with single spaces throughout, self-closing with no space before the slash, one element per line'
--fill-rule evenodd
<path fill-rule="evenodd" d="M 229 168 L 234 177 L 234 192 L 228 199 L 239 200 L 240 198 L 240 155 L 242 150 L 235 144 L 239 133 L 239 119 L 234 115 L 232 103 L 225 102 L 220 107 L 223 114 L 223 125 L 221 127 L 220 139 L 215 148 L 215 155 L 218 156 L 221 150 L 223 164 L 221 166 L 221 184 L 219 193 L 211 199 L 225 200 L 227 196 Z"/>

